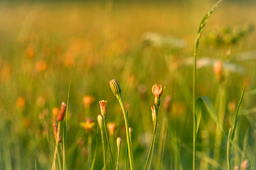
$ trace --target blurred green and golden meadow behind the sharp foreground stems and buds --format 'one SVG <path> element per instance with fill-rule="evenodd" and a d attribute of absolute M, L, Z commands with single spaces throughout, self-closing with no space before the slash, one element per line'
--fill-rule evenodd
<path fill-rule="evenodd" d="M 121 137 L 119 169 L 124 169 L 125 121 L 110 88 L 112 79 L 122 89 L 133 128 L 134 168 L 143 169 L 147 160 L 153 134 L 151 89 L 161 84 L 165 89 L 151 169 L 192 169 L 194 43 L 200 22 L 214 3 L 0 2 L 0 169 L 51 169 L 52 123 L 68 94 L 66 168 L 91 168 L 99 101 L 107 100 L 106 121 L 117 126 L 113 135 L 109 133 L 113 159 L 116 166 L 116 139 Z M 253 1 L 223 1 L 202 33 L 196 98 L 210 99 L 224 133 L 203 106 L 196 169 L 227 169 L 228 132 L 244 84 L 230 169 L 244 160 L 249 162 L 247 169 L 256 169 L 255 9 Z M 86 117 L 94 119 L 93 131 L 81 126 Z M 61 122 L 62 137 L 63 127 Z M 104 135 L 106 169 L 112 169 Z M 101 141 L 99 132 L 94 169 L 104 167 Z M 60 142 L 56 169 L 62 166 L 62 151 Z"/>

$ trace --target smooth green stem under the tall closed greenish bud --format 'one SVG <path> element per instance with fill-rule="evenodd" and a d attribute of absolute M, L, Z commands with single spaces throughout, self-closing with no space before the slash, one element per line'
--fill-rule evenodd
<path fill-rule="evenodd" d="M 124 107 L 124 102 L 122 99 L 121 94 L 117 95 L 117 100 L 119 101 L 123 114 L 124 114 L 124 121 L 125 121 L 125 129 L 126 129 L 126 138 L 127 138 L 127 145 L 128 145 L 128 153 L 129 153 L 129 159 L 130 159 L 130 166 L 131 166 L 131 170 L 134 169 L 133 166 L 133 155 L 132 155 L 132 144 L 131 144 L 131 140 L 130 140 L 130 134 L 129 134 L 129 124 L 128 124 L 128 117 L 126 114 L 126 110 Z"/>

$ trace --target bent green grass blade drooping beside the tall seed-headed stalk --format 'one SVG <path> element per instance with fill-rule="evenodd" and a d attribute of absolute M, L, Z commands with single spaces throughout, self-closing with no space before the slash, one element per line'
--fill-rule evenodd
<path fill-rule="evenodd" d="M 205 105 L 205 107 L 206 107 L 208 113 L 210 114 L 210 116 L 212 117 L 213 121 L 216 123 L 216 125 L 219 127 L 219 129 L 223 132 L 222 127 L 217 118 L 217 115 L 215 113 L 215 110 L 213 108 L 211 100 L 207 96 L 201 96 L 196 101 L 196 134 L 198 132 L 201 117 L 202 117 L 203 104 Z"/>

